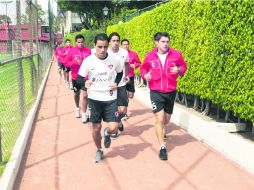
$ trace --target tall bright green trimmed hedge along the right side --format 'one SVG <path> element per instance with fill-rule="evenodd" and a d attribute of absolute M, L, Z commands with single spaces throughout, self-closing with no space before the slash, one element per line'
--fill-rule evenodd
<path fill-rule="evenodd" d="M 170 46 L 188 65 L 178 91 L 209 99 L 254 122 L 254 1 L 172 0 L 129 22 L 107 28 L 128 38 L 141 59 L 153 35 L 170 34 Z"/>

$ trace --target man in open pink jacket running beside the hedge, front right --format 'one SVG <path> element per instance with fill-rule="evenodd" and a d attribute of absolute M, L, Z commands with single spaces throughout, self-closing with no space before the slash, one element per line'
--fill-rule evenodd
<path fill-rule="evenodd" d="M 168 159 L 164 127 L 169 123 L 173 113 L 177 77 L 183 76 L 186 72 L 186 63 L 181 53 L 169 47 L 169 40 L 167 32 L 156 33 L 154 35 L 156 48 L 146 55 L 140 67 L 140 74 L 148 81 L 150 89 L 161 160 Z"/>

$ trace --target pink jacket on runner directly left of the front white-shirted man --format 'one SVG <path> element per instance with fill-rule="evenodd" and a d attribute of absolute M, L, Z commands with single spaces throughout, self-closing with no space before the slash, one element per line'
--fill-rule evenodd
<path fill-rule="evenodd" d="M 75 46 L 67 53 L 64 64 L 66 67 L 71 68 L 71 78 L 76 80 L 78 78 L 78 71 L 83 60 L 91 55 L 91 49 L 84 46 L 82 48 Z"/>

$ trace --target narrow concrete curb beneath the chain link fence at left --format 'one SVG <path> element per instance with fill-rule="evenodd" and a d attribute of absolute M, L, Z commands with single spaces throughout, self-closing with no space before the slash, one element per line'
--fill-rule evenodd
<path fill-rule="evenodd" d="M 51 63 L 52 64 L 52 63 Z M 46 72 L 46 75 L 42 81 L 42 84 L 40 86 L 40 89 L 38 91 L 37 94 L 37 98 L 36 101 L 34 102 L 33 106 L 31 107 L 24 126 L 20 132 L 19 137 L 17 138 L 17 141 L 15 143 L 15 146 L 13 148 L 13 152 L 12 155 L 6 165 L 6 168 L 4 170 L 4 173 L 0 179 L 0 189 L 1 190 L 11 190 L 13 188 L 16 176 L 18 174 L 19 171 L 19 166 L 22 160 L 22 156 L 24 153 L 24 150 L 26 148 L 26 144 L 28 141 L 28 137 L 30 135 L 32 126 L 33 126 L 33 122 L 41 101 L 41 97 L 47 82 L 47 78 L 48 78 L 48 74 L 51 68 L 51 64 Z"/>

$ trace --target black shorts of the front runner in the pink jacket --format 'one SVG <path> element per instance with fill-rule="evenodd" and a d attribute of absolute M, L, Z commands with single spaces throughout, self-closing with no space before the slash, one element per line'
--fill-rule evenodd
<path fill-rule="evenodd" d="M 162 93 L 150 91 L 150 99 L 152 103 L 153 113 L 158 113 L 162 109 L 168 114 L 173 113 L 176 91 Z"/>

